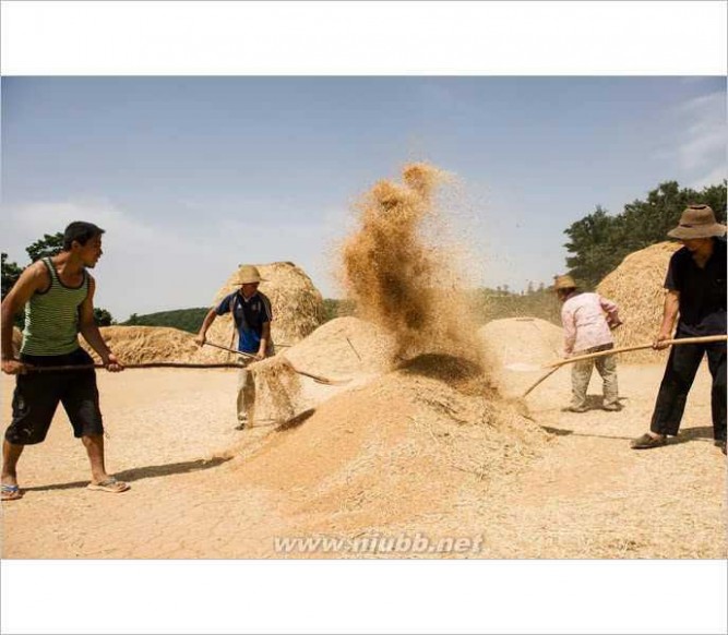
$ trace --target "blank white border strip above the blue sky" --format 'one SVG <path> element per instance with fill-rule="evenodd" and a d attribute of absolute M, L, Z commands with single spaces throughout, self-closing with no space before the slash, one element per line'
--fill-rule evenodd
<path fill-rule="evenodd" d="M 2 1 L 2 73 L 718 74 L 728 3 Z"/>

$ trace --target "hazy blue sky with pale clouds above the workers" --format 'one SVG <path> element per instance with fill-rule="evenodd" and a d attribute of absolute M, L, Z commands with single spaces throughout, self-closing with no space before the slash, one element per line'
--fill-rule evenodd
<path fill-rule="evenodd" d="M 97 223 L 96 302 L 119 320 L 206 305 L 244 262 L 337 297 L 351 203 L 427 160 L 457 176 L 442 212 L 476 280 L 523 289 L 597 204 L 720 182 L 726 139 L 723 77 L 3 77 L 2 250 L 24 265 Z"/>

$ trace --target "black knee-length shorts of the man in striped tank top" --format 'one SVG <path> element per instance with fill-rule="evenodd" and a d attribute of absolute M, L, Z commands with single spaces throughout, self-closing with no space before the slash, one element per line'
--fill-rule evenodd
<path fill-rule="evenodd" d="M 21 355 L 21 361 L 37 366 L 84 366 L 91 356 L 77 348 L 68 355 Z M 14 445 L 33 445 L 46 439 L 58 404 L 63 404 L 75 438 L 104 434 L 94 369 L 28 372 L 15 380 L 13 420 L 5 440 Z"/>

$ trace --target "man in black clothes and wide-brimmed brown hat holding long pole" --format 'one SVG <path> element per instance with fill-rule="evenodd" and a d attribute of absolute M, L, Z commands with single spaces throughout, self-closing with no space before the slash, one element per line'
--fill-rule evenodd
<path fill-rule="evenodd" d="M 726 334 L 726 226 L 716 221 L 707 205 L 690 205 L 680 224 L 668 232 L 683 244 L 672 254 L 665 279 L 663 324 L 654 347 L 664 340 Z M 675 346 L 657 394 L 649 432 L 632 442 L 635 450 L 658 447 L 675 436 L 685 409 L 695 373 L 707 356 L 713 376 L 711 412 L 715 445 L 726 454 L 726 343 Z"/>

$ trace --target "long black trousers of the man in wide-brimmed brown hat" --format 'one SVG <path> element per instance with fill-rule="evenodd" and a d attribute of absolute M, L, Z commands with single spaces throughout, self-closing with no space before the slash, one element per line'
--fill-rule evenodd
<path fill-rule="evenodd" d="M 713 376 L 711 410 L 713 435 L 726 440 L 726 344 L 683 344 L 673 346 L 667 361 L 665 376 L 657 393 L 655 411 L 649 429 L 657 434 L 676 435 L 685 410 L 688 393 L 703 356 Z"/>

